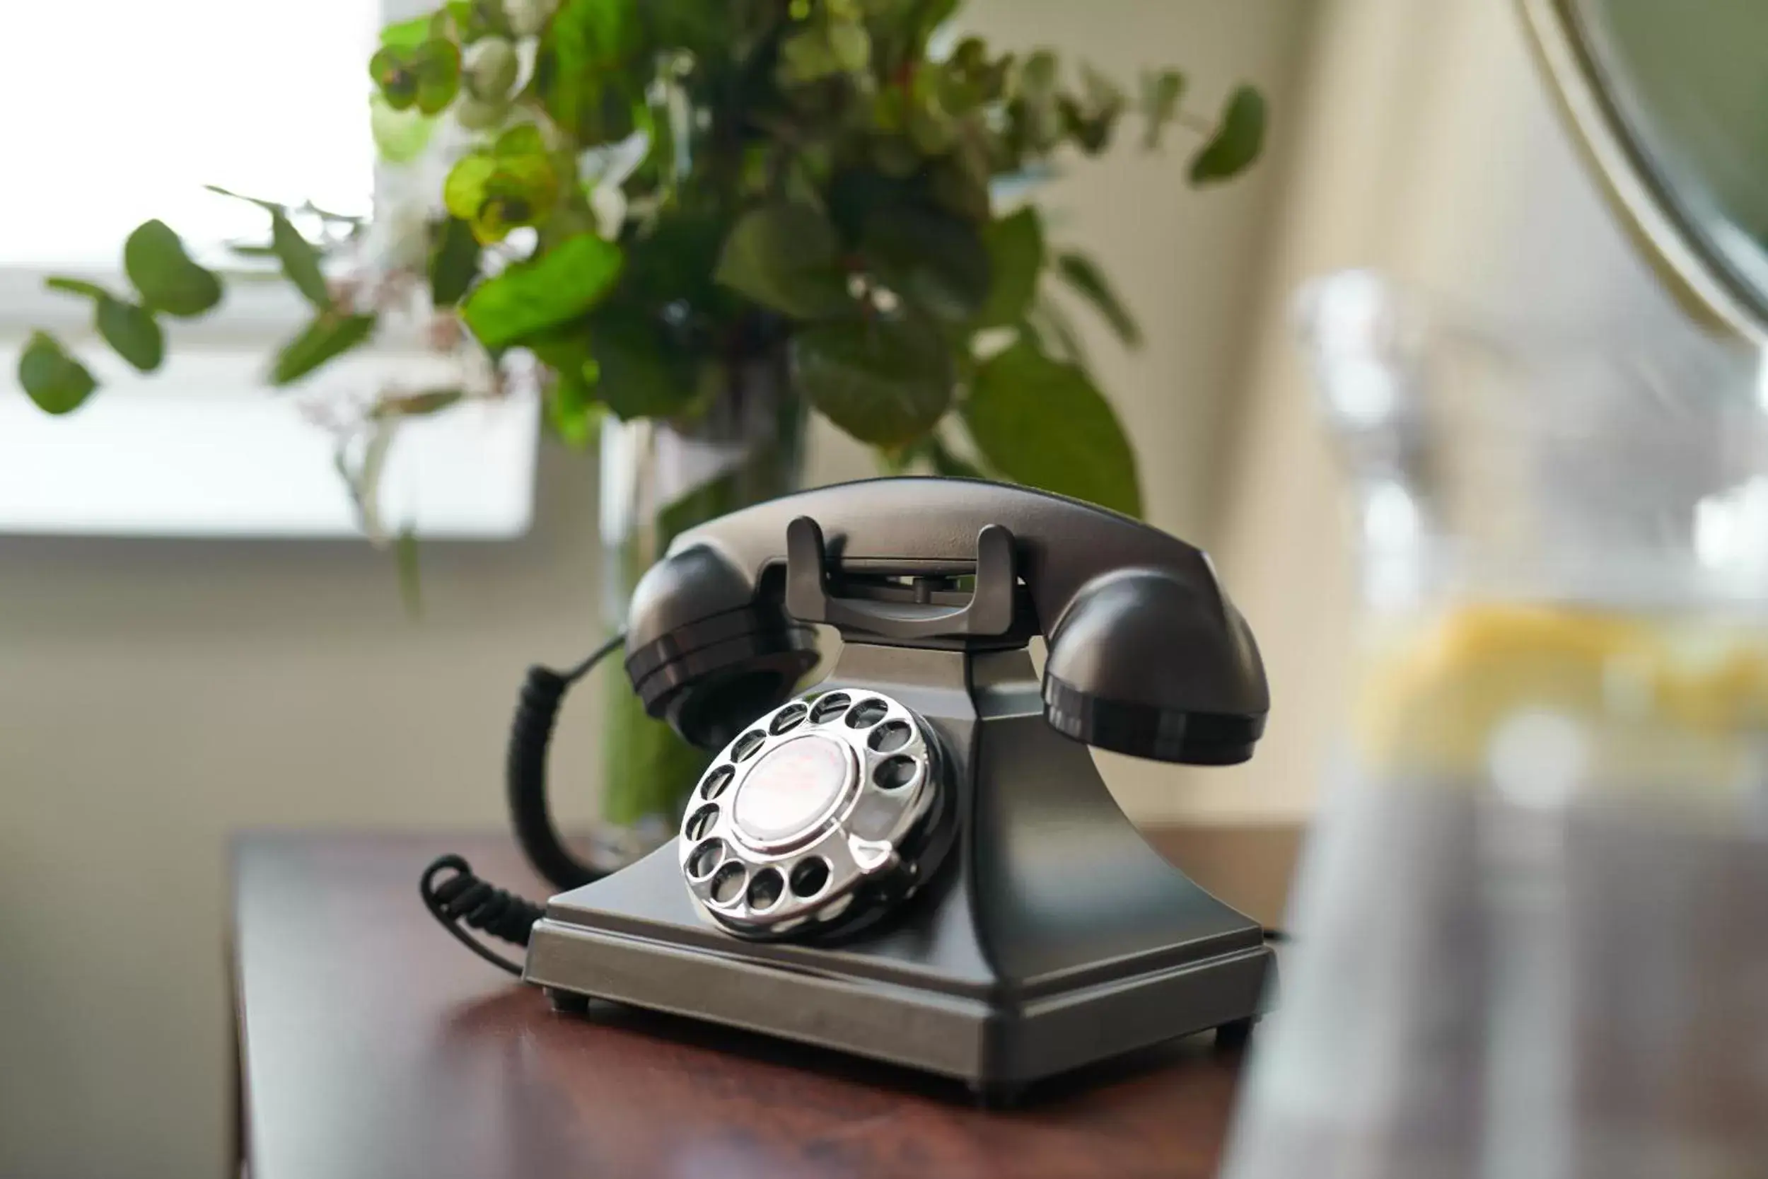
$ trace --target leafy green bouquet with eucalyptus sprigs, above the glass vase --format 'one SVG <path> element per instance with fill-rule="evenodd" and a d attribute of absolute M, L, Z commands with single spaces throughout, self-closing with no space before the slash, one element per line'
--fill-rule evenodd
<path fill-rule="evenodd" d="M 382 32 L 368 74 L 382 156 L 415 168 L 410 272 L 431 313 L 495 371 L 514 352 L 545 371 L 548 421 L 583 444 L 603 412 L 688 419 L 720 373 L 787 362 L 794 391 L 895 470 L 1004 477 L 1140 511 L 1133 449 L 1094 385 L 1052 286 L 1124 345 L 1135 318 L 1086 255 L 1047 240 L 1008 191 L 1112 147 L 1195 136 L 1190 177 L 1213 184 L 1259 156 L 1264 101 L 1232 92 L 1186 111 L 1185 78 L 1147 71 L 1135 95 L 1048 51 L 997 53 L 944 35 L 956 0 L 449 0 Z M 242 198 L 249 200 L 249 198 Z M 274 263 L 309 322 L 272 357 L 297 384 L 370 341 L 384 281 L 341 279 L 364 226 L 311 205 L 255 202 Z M 163 320 L 200 316 L 223 279 L 168 226 L 124 247 L 133 290 L 50 286 L 94 308 L 99 336 L 149 373 Z M 384 278 L 384 276 L 382 276 Z M 51 414 L 92 373 L 48 334 L 18 369 Z M 401 391 L 370 419 L 440 412 L 460 391 Z M 384 437 L 384 435 L 377 435 Z M 384 454 L 385 444 L 380 444 Z M 373 453 L 347 470 L 357 483 Z M 354 483 L 355 486 L 355 483 Z"/>

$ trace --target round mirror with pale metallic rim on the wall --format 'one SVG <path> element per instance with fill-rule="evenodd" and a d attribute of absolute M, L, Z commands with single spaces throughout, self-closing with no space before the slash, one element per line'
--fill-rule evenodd
<path fill-rule="evenodd" d="M 1520 2 L 1658 272 L 1699 318 L 1768 341 L 1768 4 Z"/>

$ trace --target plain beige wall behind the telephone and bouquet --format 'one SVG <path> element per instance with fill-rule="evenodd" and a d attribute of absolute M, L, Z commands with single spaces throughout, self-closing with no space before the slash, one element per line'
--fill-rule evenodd
<path fill-rule="evenodd" d="M 1117 71 L 1177 62 L 1206 106 L 1254 80 L 1284 118 L 1308 7 L 988 0 L 976 19 Z M 1096 332 L 1094 354 L 1151 516 L 1190 536 L 1278 177 L 1188 194 L 1177 159 L 1126 152 L 1059 193 L 1061 237 L 1142 315 L 1142 355 Z M 820 477 L 866 470 L 824 442 Z M 421 622 L 359 544 L 0 539 L 0 1175 L 223 1172 L 226 833 L 500 822 L 522 668 L 596 638 L 592 465 L 548 453 L 539 500 L 520 543 L 426 550 Z M 566 709 L 557 772 L 585 785 L 566 815 L 592 799 L 592 693 Z M 1174 781 L 1112 780 L 1140 811 Z"/>

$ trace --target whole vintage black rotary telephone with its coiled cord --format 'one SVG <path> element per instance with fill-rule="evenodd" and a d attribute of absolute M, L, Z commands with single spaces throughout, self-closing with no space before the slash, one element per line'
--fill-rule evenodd
<path fill-rule="evenodd" d="M 794 695 L 812 624 L 843 645 Z M 424 879 L 444 921 L 527 940 L 557 1008 L 613 999 L 995 1098 L 1261 1011 L 1259 924 L 1142 841 L 1084 748 L 1252 755 L 1264 670 L 1190 544 L 1017 486 L 849 483 L 679 536 L 624 645 L 647 711 L 718 749 L 677 840 L 543 912 L 453 857 Z M 587 666 L 530 681 L 543 735 Z M 583 880 L 534 804 L 543 755 L 518 726 L 518 834 Z"/>

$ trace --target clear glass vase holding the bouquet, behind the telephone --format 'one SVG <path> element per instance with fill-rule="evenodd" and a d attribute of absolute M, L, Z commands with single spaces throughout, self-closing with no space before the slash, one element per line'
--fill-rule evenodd
<path fill-rule="evenodd" d="M 721 380 L 704 414 L 603 422 L 601 615 L 610 633 L 626 626 L 633 587 L 681 532 L 803 481 L 806 410 L 785 357 L 725 368 Z M 674 834 L 707 755 L 612 679 L 599 732 L 601 820 L 621 847 L 603 854 L 635 859 Z"/>

